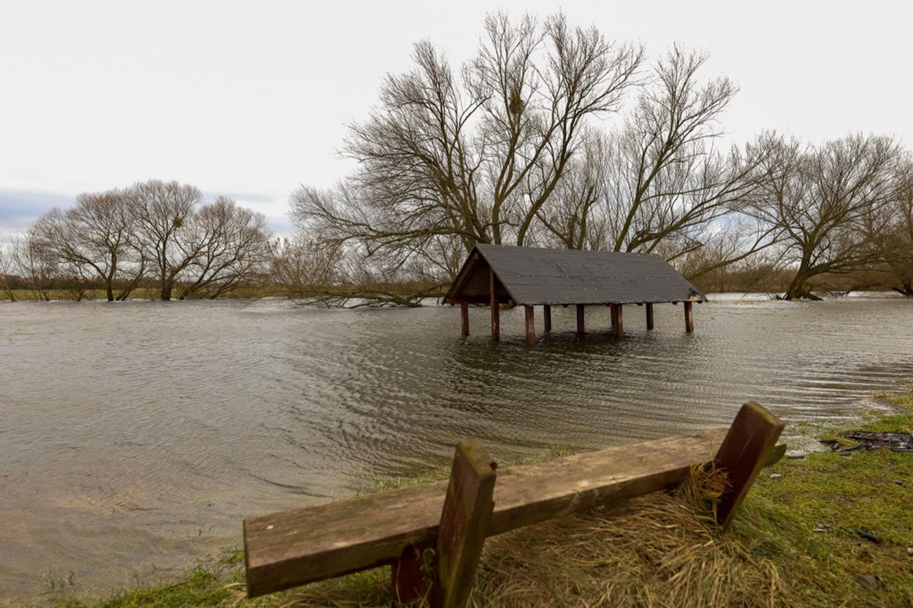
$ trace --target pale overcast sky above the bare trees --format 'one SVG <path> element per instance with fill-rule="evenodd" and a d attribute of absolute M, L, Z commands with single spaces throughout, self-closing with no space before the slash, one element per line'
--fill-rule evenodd
<path fill-rule="evenodd" d="M 482 20 L 561 9 L 574 25 L 708 51 L 705 76 L 740 93 L 729 139 L 776 129 L 820 141 L 850 131 L 913 142 L 908 2 L 341 1 L 0 5 L 0 233 L 75 194 L 161 178 L 227 194 L 288 231 L 299 183 L 330 186 L 338 150 L 387 72 L 431 39 L 454 63 Z M 3 238 L 0 236 L 0 238 Z"/>

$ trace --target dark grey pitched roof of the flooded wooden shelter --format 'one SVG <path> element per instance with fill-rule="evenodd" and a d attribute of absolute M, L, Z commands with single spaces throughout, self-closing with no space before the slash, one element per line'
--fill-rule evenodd
<path fill-rule="evenodd" d="M 525 306 L 706 300 L 654 254 L 477 244 L 444 301 L 488 302 L 489 268 L 498 301 Z"/>

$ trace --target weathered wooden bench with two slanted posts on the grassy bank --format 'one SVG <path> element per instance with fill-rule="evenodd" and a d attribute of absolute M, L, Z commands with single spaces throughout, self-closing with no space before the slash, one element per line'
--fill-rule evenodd
<path fill-rule="evenodd" d="M 488 536 L 675 487 L 711 463 L 729 477 L 717 509 L 726 526 L 761 468 L 785 452 L 782 428 L 750 402 L 729 429 L 499 471 L 484 446 L 463 441 L 449 481 L 245 519 L 247 594 L 391 564 L 396 603 L 464 606 Z"/>

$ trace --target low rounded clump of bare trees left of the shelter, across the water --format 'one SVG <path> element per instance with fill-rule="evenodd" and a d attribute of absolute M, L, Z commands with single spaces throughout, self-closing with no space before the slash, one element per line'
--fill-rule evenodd
<path fill-rule="evenodd" d="M 153 288 L 159 299 L 217 298 L 268 275 L 270 233 L 263 215 L 224 196 L 210 203 L 191 185 L 151 180 L 79 194 L 52 209 L 0 251 L 9 299 L 26 288 L 108 300 Z"/>

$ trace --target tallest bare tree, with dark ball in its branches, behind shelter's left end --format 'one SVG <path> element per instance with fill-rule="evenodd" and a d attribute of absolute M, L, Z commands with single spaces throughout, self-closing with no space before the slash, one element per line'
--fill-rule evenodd
<path fill-rule="evenodd" d="M 429 42 L 415 68 L 388 76 L 380 105 L 352 126 L 344 153 L 359 170 L 337 188 L 302 187 L 292 216 L 328 245 L 392 251 L 449 272 L 429 248 L 526 244 L 591 117 L 614 112 L 639 47 L 606 41 L 563 16 L 544 24 L 489 16 L 459 77 Z"/>

